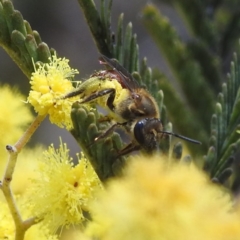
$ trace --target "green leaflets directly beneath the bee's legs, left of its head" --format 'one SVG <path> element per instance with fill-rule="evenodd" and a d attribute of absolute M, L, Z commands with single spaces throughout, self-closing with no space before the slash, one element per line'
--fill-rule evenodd
<path fill-rule="evenodd" d="M 72 134 L 78 141 L 87 158 L 91 161 L 102 181 L 121 173 L 125 158 L 116 159 L 118 151 L 123 148 L 120 136 L 114 133 L 93 143 L 93 139 L 106 129 L 106 124 L 99 123 L 100 116 L 96 109 L 88 111 L 78 102 L 72 106 Z M 104 127 L 104 128 L 103 128 Z M 101 129 L 103 128 L 103 129 Z"/>

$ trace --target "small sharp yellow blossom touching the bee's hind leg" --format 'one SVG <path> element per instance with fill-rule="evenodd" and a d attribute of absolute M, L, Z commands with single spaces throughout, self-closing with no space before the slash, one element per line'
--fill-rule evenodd
<path fill-rule="evenodd" d="M 65 58 L 53 55 L 49 63 L 40 65 L 32 74 L 28 101 L 38 114 L 49 114 L 51 123 L 69 129 L 72 126 L 71 106 L 77 97 L 62 97 L 74 89 L 69 78 L 74 77 L 78 71 L 71 69 L 68 62 Z"/>

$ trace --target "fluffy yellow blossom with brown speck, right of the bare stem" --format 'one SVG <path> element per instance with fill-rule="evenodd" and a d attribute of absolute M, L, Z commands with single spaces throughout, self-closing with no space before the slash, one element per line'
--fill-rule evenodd
<path fill-rule="evenodd" d="M 56 150 L 51 145 L 39 159 L 26 204 L 52 232 L 62 226 L 81 224 L 89 201 L 101 189 L 87 159 L 82 155 L 78 160 L 74 166 L 65 144 Z"/>

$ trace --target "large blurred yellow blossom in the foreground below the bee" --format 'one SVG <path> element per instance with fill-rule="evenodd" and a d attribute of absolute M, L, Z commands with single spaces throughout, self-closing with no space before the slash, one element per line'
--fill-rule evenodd
<path fill-rule="evenodd" d="M 101 240 L 239 240 L 230 197 L 193 166 L 133 161 L 93 205 L 87 233 Z"/>

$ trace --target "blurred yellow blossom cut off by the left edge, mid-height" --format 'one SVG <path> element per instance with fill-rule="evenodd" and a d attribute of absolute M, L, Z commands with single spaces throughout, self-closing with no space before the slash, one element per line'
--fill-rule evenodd
<path fill-rule="evenodd" d="M 33 119 L 23 102 L 24 98 L 16 87 L 0 86 L 0 177 L 8 157 L 5 146 L 15 143 L 22 135 L 23 128 Z"/>

